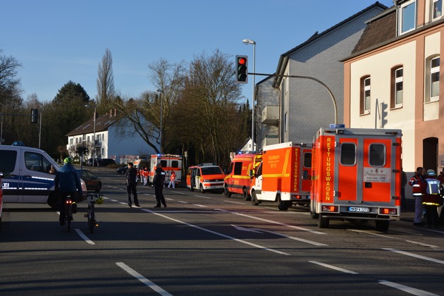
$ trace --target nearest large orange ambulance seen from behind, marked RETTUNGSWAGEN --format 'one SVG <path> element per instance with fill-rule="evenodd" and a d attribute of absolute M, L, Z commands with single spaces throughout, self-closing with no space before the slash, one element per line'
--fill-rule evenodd
<path fill-rule="evenodd" d="M 313 140 L 310 214 L 319 228 L 330 219 L 375 220 L 388 230 L 400 216 L 401 130 L 321 128 Z"/>

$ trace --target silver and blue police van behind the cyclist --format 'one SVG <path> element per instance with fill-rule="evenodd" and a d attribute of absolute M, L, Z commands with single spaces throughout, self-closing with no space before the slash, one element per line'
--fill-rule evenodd
<path fill-rule="evenodd" d="M 60 209 L 60 200 L 54 193 L 54 178 L 60 169 L 43 150 L 25 146 L 0 145 L 0 172 L 3 173 L 3 201 L 49 204 Z M 82 190 L 87 192 L 85 182 Z M 75 202 L 85 196 L 75 197 Z"/>

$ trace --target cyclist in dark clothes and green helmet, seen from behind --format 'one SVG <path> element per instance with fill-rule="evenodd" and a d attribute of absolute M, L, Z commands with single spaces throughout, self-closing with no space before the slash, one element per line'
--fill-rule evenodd
<path fill-rule="evenodd" d="M 73 159 L 67 157 L 63 159 L 63 167 L 57 171 L 56 178 L 54 179 L 54 186 L 58 190 L 61 197 L 60 205 L 60 225 L 65 225 L 65 201 L 68 195 L 74 199 L 75 192 L 78 190 L 80 195 L 83 195 L 82 184 L 80 178 L 73 166 Z M 75 212 L 75 209 L 73 209 Z"/>

